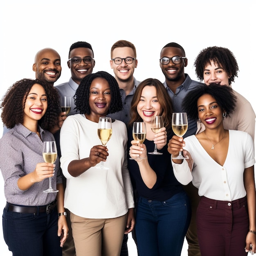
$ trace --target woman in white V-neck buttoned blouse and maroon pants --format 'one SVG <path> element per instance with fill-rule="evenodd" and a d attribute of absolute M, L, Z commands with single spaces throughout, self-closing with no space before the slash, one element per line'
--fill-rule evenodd
<path fill-rule="evenodd" d="M 168 151 L 174 157 L 184 149 L 189 156 L 186 161 L 172 159 L 172 163 L 177 180 L 182 184 L 192 180 L 201 196 L 197 210 L 201 255 L 255 252 L 254 143 L 246 132 L 223 127 L 223 119 L 236 106 L 236 97 L 231 88 L 210 84 L 191 91 L 183 106 L 205 130 L 184 141 L 173 136 Z"/>

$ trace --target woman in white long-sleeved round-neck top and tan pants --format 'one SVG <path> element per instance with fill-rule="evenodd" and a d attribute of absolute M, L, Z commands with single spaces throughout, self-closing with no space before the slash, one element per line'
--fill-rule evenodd
<path fill-rule="evenodd" d="M 67 117 L 60 144 L 64 206 L 70 210 L 76 255 L 119 256 L 124 232 L 135 225 L 126 125 L 112 120 L 107 147 L 97 136 L 99 118 L 122 109 L 117 81 L 107 72 L 90 74 L 74 100 L 80 114 Z M 108 170 L 97 169 L 101 161 Z"/>

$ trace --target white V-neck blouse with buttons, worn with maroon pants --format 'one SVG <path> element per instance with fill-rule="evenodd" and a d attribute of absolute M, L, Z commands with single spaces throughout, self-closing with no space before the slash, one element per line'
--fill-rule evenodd
<path fill-rule="evenodd" d="M 198 194 L 221 201 L 233 201 L 246 195 L 243 182 L 245 168 L 254 165 L 254 142 L 246 132 L 229 130 L 229 148 L 223 166 L 215 162 L 204 150 L 195 135 L 184 139 L 184 149 L 191 154 L 194 165 L 192 183 L 198 188 Z M 189 179 L 188 164 L 173 163 L 173 171 L 178 181 Z M 180 180 L 179 180 L 180 179 Z"/>

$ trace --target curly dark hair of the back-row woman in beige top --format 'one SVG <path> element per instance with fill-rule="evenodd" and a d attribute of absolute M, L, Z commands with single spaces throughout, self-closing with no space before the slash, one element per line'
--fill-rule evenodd
<path fill-rule="evenodd" d="M 204 79 L 204 69 L 213 61 L 215 64 L 221 66 L 227 72 L 229 78 L 229 85 L 238 77 L 238 64 L 234 54 L 227 48 L 212 46 L 202 49 L 195 58 L 195 74 L 200 81 Z"/>

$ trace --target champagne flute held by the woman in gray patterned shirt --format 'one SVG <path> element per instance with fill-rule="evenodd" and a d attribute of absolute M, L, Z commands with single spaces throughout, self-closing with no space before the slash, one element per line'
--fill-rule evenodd
<path fill-rule="evenodd" d="M 43 158 L 46 163 L 53 164 L 57 158 L 57 148 L 55 141 L 43 141 Z M 43 191 L 45 193 L 58 192 L 58 190 L 52 188 L 52 179 L 49 177 L 49 189 Z"/>

